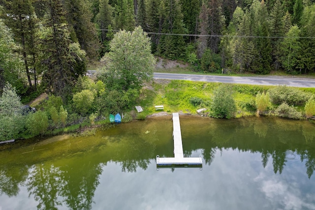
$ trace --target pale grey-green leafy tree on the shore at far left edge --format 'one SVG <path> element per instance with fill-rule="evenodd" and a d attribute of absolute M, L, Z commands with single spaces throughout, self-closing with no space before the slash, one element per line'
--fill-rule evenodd
<path fill-rule="evenodd" d="M 23 131 L 22 105 L 15 88 L 6 83 L 0 97 L 0 141 L 18 138 Z"/>

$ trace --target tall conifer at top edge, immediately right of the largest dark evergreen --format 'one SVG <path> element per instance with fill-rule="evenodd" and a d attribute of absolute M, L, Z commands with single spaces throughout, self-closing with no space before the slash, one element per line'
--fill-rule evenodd
<path fill-rule="evenodd" d="M 73 42 L 79 42 L 90 60 L 98 55 L 98 40 L 95 25 L 91 22 L 93 14 L 87 0 L 65 0 L 66 20 Z M 73 30 L 72 30 L 73 29 Z"/>

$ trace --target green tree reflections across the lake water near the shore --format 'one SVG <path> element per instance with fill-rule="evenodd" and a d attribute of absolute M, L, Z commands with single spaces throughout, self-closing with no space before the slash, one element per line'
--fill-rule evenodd
<path fill-rule="evenodd" d="M 286 150 L 292 150 L 299 155 L 300 161 L 305 163 L 308 177 L 313 176 L 314 124 L 273 118 L 207 119 L 201 125 L 198 124 L 199 121 L 199 118 L 181 118 L 186 156 L 193 154 L 193 151 L 201 150 L 204 163 L 211 165 L 218 151 L 221 153 L 228 149 L 250 151 L 261 154 L 261 164 L 264 168 L 268 161 L 272 161 L 274 173 L 281 174 L 289 161 L 286 160 Z M 64 143 L 67 144 L 65 157 L 48 156 L 39 161 L 38 157 L 33 155 L 29 160 L 32 163 L 30 166 L 22 164 L 26 156 L 21 155 L 21 151 L 16 152 L 14 164 L 12 164 L 14 158 L 11 158 L 11 162 L 5 159 L 10 155 L 9 151 L 1 151 L 0 159 L 3 161 L 0 163 L 0 195 L 16 196 L 19 194 L 20 186 L 26 186 L 29 196 L 33 196 L 38 202 L 39 210 L 54 210 L 61 206 L 72 210 L 91 209 L 100 176 L 108 162 L 119 164 L 122 172 L 135 173 L 139 168 L 147 170 L 150 163 L 155 164 L 157 154 L 172 155 L 169 154 L 169 150 L 172 149 L 167 148 L 166 151 L 166 143 L 161 141 L 164 138 L 160 136 L 163 129 L 159 132 L 160 128 L 157 125 L 150 127 L 150 123 L 147 122 L 137 123 L 144 124 L 143 130 L 138 131 L 133 127 L 128 130 L 121 126 L 119 129 L 125 129 L 124 134 L 120 135 L 121 130 L 116 130 L 114 137 L 109 135 L 97 140 L 85 140 L 87 145 L 80 147 L 79 140 L 73 140 L 76 141 L 75 144 L 70 144 L 71 141 L 67 140 L 68 142 Z M 147 130 L 151 132 L 146 134 Z M 137 135 L 137 132 L 140 134 Z M 166 135 L 171 135 L 171 131 Z M 95 144 L 95 141 L 99 143 Z M 172 145 L 167 144 L 167 147 Z M 74 147 L 78 148 L 73 149 Z M 164 153 L 158 153 L 163 151 Z M 44 155 L 47 150 L 41 152 Z M 54 155 L 53 152 L 50 155 Z"/>

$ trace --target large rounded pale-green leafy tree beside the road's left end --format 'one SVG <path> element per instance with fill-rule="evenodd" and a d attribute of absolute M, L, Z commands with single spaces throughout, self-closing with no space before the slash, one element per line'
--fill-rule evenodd
<path fill-rule="evenodd" d="M 152 79 L 156 60 L 151 54 L 150 38 L 141 27 L 116 33 L 110 50 L 103 58 L 106 65 L 102 70 L 107 88 L 140 90 Z"/>

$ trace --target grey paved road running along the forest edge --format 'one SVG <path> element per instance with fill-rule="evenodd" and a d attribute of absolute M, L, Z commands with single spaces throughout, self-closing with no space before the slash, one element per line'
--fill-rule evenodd
<path fill-rule="evenodd" d="M 190 80 L 214 83 L 235 83 L 268 86 L 286 85 L 291 87 L 315 88 L 315 79 L 305 79 L 294 76 L 232 77 L 196 74 L 154 73 L 154 79 Z"/>

